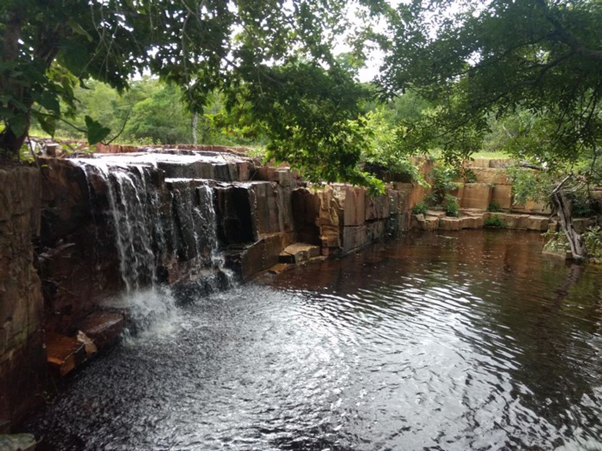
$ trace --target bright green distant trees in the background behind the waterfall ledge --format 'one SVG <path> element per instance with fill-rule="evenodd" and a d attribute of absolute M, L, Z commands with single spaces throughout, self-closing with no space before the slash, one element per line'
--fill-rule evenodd
<path fill-rule="evenodd" d="M 218 93 L 211 94 L 205 111 L 196 121 L 185 108 L 178 87 L 154 78 L 132 81 L 131 88 L 122 95 L 106 84 L 88 80 L 76 88 L 74 94 L 78 99 L 77 113 L 74 117 L 66 117 L 66 121 L 57 122 L 57 137 L 85 140 L 85 133 L 78 129 L 85 129 L 84 118 L 88 115 L 113 130 L 109 138 L 122 130 L 117 143 L 194 143 L 196 123 L 194 128 L 199 144 L 262 144 L 261 136 L 245 136 L 244 130 L 224 124 L 226 110 Z M 32 135 L 44 134 L 36 123 L 33 128 Z"/>

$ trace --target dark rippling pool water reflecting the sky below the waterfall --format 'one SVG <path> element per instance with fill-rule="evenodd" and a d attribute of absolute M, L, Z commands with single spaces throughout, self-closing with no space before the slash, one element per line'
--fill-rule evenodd
<path fill-rule="evenodd" d="M 26 425 L 50 449 L 602 449 L 602 271 L 407 236 L 179 311 Z"/>

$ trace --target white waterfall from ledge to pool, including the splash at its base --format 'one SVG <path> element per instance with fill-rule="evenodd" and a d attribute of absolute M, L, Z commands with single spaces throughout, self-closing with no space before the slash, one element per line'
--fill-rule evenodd
<path fill-rule="evenodd" d="M 95 223 L 106 224 L 113 234 L 119 260 L 123 292 L 104 304 L 127 308 L 138 331 L 169 330 L 176 297 L 231 284 L 219 250 L 213 188 L 206 180 L 157 183 L 159 170 L 151 164 L 104 160 L 73 160 L 87 177 Z M 184 280 L 177 280 L 178 266 L 185 268 Z M 174 278 L 172 290 L 163 282 Z"/>

